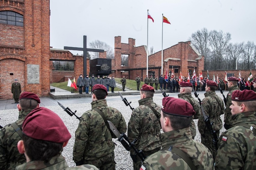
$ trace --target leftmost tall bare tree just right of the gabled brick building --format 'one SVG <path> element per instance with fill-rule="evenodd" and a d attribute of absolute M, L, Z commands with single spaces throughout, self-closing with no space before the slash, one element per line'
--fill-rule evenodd
<path fill-rule="evenodd" d="M 210 43 L 209 43 L 209 32 L 206 28 L 201 30 L 197 30 L 192 33 L 191 37 L 188 38 L 188 41 L 191 41 L 191 45 L 193 45 L 197 51 L 201 55 L 204 55 L 204 69 L 208 69 L 209 66 L 209 53 L 210 53 Z"/>

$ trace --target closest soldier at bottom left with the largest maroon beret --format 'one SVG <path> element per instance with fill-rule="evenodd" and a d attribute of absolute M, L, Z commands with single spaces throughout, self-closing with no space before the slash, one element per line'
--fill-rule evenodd
<path fill-rule="evenodd" d="M 44 120 L 47 123 L 42 123 Z M 38 107 L 29 113 L 23 122 L 23 140 L 18 142 L 20 154 L 25 154 L 26 163 L 16 167 L 17 170 L 70 170 L 97 169 L 92 165 L 69 168 L 61 155 L 71 134 L 60 117 L 53 111 Z"/>

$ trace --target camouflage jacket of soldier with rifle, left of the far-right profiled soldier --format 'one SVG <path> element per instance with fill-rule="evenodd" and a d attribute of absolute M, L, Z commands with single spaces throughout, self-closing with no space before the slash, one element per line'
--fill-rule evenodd
<path fill-rule="evenodd" d="M 215 91 L 206 92 L 204 95 L 205 98 L 202 100 L 201 107 L 203 107 L 205 115 L 209 116 L 210 121 L 213 122 L 212 129 L 220 130 L 222 128 L 222 120 L 220 116 L 224 114 L 225 111 L 224 102 L 219 96 L 216 95 Z M 218 102 L 212 96 L 215 96 L 218 99 Z M 219 106 L 218 103 L 220 103 L 221 106 Z M 210 133 L 210 130 L 207 129 L 205 125 L 202 111 L 201 116 L 198 119 L 197 126 L 200 134 Z"/>

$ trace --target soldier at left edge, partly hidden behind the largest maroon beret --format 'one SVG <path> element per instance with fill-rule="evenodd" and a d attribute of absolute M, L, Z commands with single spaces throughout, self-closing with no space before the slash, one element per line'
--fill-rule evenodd
<path fill-rule="evenodd" d="M 31 100 L 30 100 L 31 99 Z M 15 122 L 22 130 L 25 117 L 36 107 L 39 107 L 40 99 L 34 93 L 23 92 L 20 95 L 20 103 L 17 104 L 19 119 Z M 17 143 L 22 140 L 11 124 L 0 130 L 0 169 L 15 169 L 16 166 L 26 162 L 24 154 L 20 154 Z"/>

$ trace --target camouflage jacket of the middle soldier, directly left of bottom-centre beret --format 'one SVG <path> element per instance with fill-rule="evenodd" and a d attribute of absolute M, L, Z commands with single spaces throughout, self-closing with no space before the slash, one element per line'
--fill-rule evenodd
<path fill-rule="evenodd" d="M 154 103 L 153 97 L 143 98 L 139 100 L 139 107 L 133 110 L 130 121 L 128 123 L 127 135 L 130 141 L 138 139 L 135 144 L 135 148 L 142 151 L 151 151 L 153 149 L 161 147 L 159 134 L 160 123 L 157 120 L 154 112 L 144 104 L 149 104 L 159 115 L 160 121 L 160 111 L 161 107 Z M 130 151 L 131 154 L 135 154 L 133 150 Z"/>

